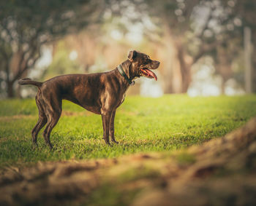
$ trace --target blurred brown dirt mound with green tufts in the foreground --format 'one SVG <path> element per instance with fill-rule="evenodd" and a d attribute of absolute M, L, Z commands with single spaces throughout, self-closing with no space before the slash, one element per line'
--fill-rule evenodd
<path fill-rule="evenodd" d="M 256 118 L 223 138 L 171 155 L 6 168 L 0 175 L 0 205 L 90 205 L 89 199 L 99 199 L 94 194 L 103 198 L 110 189 L 121 197 L 133 192 L 127 199 L 113 196 L 114 205 L 255 205 L 255 125 Z"/>

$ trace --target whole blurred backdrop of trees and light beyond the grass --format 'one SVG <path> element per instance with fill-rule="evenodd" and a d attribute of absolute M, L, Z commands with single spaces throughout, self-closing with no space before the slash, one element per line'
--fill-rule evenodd
<path fill-rule="evenodd" d="M 132 49 L 161 65 L 130 95 L 255 92 L 255 20 L 255 0 L 2 0 L 0 98 L 34 97 L 24 77 L 110 71 Z"/>

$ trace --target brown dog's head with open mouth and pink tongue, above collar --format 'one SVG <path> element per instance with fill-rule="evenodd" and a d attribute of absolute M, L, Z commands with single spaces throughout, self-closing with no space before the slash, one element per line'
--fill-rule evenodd
<path fill-rule="evenodd" d="M 159 67 L 159 61 L 151 60 L 148 55 L 135 50 L 130 51 L 128 55 L 129 74 L 132 77 L 146 76 L 150 79 L 155 79 L 157 81 L 157 75 L 154 74 L 151 69 L 157 69 Z"/>

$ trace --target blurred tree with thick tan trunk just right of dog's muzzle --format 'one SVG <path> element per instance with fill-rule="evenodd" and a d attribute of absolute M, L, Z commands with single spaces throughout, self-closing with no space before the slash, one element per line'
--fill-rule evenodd
<path fill-rule="evenodd" d="M 239 19 L 233 14 L 233 1 L 134 2 L 140 15 L 130 16 L 144 23 L 145 17 L 150 16 L 158 28 L 144 28 L 144 33 L 151 42 L 157 41 L 167 51 L 165 66 L 162 67 L 165 93 L 187 92 L 192 78 L 192 66 L 206 55 L 211 55 L 216 60 L 217 73 L 222 75 L 223 85 L 225 84 L 232 74 L 230 60 L 238 53 L 232 50 L 234 47 L 225 47 L 225 44 L 237 37 L 235 27 L 241 26 Z M 122 6 L 127 5 L 120 3 L 118 11 Z M 124 12 L 121 14 L 124 15 Z M 223 56 L 225 52 L 230 52 L 230 55 Z"/>

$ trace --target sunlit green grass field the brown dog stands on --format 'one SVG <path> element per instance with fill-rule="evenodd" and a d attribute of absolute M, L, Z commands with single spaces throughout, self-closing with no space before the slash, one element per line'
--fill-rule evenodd
<path fill-rule="evenodd" d="M 189 98 L 127 97 L 116 114 L 118 145 L 102 140 L 101 116 L 64 101 L 63 114 L 51 133 L 54 151 L 42 130 L 32 148 L 37 122 L 34 100 L 0 101 L 0 167 L 62 159 L 119 157 L 146 151 L 173 151 L 225 135 L 256 115 L 256 96 Z"/>

